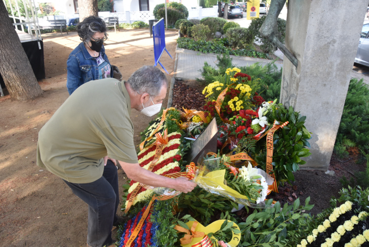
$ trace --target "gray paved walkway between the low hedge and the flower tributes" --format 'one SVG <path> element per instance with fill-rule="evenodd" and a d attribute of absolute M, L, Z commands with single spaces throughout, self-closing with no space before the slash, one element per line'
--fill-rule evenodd
<path fill-rule="evenodd" d="M 182 48 L 177 48 L 176 52 L 176 77 L 185 79 L 201 78 L 201 72 L 199 70 L 202 69 L 202 67 L 204 66 L 204 62 L 207 62 L 212 67 L 216 67 L 216 56 L 218 54 L 204 54 L 199 51 L 187 50 Z M 270 62 L 270 60 L 268 59 L 261 58 L 241 57 L 233 55 L 230 55 L 230 57 L 233 58 L 232 63 L 235 64 L 237 67 L 251 65 L 257 62 L 266 65 Z M 283 63 L 281 62 L 275 62 L 275 64 L 278 66 L 278 68 L 282 67 L 283 65 Z"/>

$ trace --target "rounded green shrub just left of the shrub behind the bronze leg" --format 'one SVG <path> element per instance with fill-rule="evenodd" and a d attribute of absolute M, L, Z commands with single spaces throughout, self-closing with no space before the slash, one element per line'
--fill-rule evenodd
<path fill-rule="evenodd" d="M 250 48 L 253 41 L 249 30 L 244 27 L 229 28 L 225 35 L 233 48 Z"/>

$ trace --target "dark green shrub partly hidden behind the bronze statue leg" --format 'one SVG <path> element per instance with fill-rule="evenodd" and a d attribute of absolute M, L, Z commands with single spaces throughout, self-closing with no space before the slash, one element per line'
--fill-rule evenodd
<path fill-rule="evenodd" d="M 249 29 L 250 34 L 253 37 L 252 41 L 254 41 L 254 39 L 261 41 L 262 44 L 260 45 L 260 48 L 265 53 L 273 53 L 272 43 L 267 38 L 262 37 L 259 33 L 259 29 L 261 25 L 264 23 L 265 18 L 266 18 L 266 15 L 263 15 L 262 17 L 259 17 L 259 18 L 253 18 L 248 29 Z M 281 38 L 279 39 L 279 41 L 284 43 L 284 38 L 286 36 L 286 20 L 278 18 L 277 25 L 278 25 L 278 31 L 281 34 Z"/>

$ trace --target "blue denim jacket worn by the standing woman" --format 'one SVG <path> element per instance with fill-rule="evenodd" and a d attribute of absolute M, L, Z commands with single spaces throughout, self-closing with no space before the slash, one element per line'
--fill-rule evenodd
<path fill-rule="evenodd" d="M 101 47 L 102 56 L 110 64 L 105 54 L 104 45 Z M 110 75 L 113 77 L 113 67 L 110 64 Z M 81 42 L 70 54 L 67 60 L 67 89 L 69 95 L 82 84 L 99 79 L 99 68 L 96 58 L 88 53 Z"/>

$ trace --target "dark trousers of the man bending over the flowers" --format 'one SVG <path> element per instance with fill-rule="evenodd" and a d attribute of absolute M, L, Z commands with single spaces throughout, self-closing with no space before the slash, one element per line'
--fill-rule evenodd
<path fill-rule="evenodd" d="M 110 246 L 113 223 L 117 221 L 119 204 L 117 167 L 108 160 L 98 180 L 87 184 L 74 184 L 64 180 L 74 195 L 88 204 L 87 244 L 91 247 Z"/>

